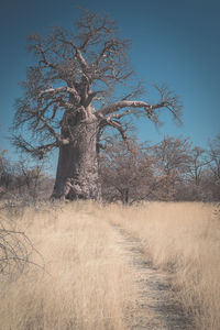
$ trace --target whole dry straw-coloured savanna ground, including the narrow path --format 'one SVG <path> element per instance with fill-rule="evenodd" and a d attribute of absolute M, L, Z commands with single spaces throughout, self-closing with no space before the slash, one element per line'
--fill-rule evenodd
<path fill-rule="evenodd" d="M 217 205 L 45 204 L 1 221 L 34 246 L 0 276 L 1 330 L 220 329 Z"/>

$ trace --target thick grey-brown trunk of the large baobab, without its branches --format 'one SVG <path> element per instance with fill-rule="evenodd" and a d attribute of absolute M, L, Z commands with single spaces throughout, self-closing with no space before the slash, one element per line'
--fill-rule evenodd
<path fill-rule="evenodd" d="M 72 121 L 73 143 L 59 147 L 52 198 L 101 199 L 97 157 L 97 122 Z M 69 129 L 68 129 L 69 130 Z M 68 131 L 69 134 L 69 131 Z"/>

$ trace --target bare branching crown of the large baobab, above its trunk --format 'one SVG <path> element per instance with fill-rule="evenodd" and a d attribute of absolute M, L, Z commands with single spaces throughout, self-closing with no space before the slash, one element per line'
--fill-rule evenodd
<path fill-rule="evenodd" d="M 124 92 L 133 74 L 127 54 L 131 41 L 118 36 L 117 25 L 108 16 L 82 10 L 74 31 L 56 26 L 46 36 L 33 34 L 28 47 L 35 65 L 28 68 L 26 81 L 21 82 L 23 96 L 15 102 L 14 128 L 32 132 L 32 136 L 20 133 L 13 142 L 33 155 L 43 157 L 54 147 L 74 143 L 73 114 L 80 113 L 86 121 L 90 105 L 96 107 L 99 131 L 110 125 L 123 139 L 125 128 L 120 120 L 130 113 L 144 113 L 157 123 L 158 110 L 166 108 L 180 119 L 178 98 L 165 86 L 156 87 L 160 100 L 155 105 L 135 99 L 142 91 L 139 82 Z M 119 85 L 123 90 L 120 97 L 116 92 Z M 61 128 L 72 134 L 66 136 Z"/>

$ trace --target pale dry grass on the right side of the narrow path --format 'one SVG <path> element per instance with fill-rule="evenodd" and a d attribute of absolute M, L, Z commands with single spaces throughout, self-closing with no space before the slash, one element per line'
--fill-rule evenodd
<path fill-rule="evenodd" d="M 220 219 L 217 206 L 146 202 L 108 206 L 111 223 L 141 241 L 147 258 L 169 272 L 177 299 L 198 330 L 220 329 Z"/>

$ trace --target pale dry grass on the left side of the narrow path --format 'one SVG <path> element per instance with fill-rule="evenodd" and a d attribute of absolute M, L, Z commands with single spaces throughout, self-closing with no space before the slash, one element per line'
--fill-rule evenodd
<path fill-rule="evenodd" d="M 98 217 L 99 208 L 47 205 L 28 208 L 16 219 L 47 273 L 30 265 L 16 280 L 1 277 L 0 329 L 128 329 L 135 276 L 116 230 Z M 42 263 L 36 253 L 32 261 Z"/>

